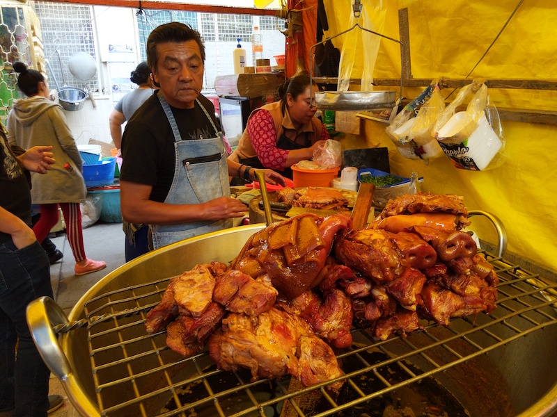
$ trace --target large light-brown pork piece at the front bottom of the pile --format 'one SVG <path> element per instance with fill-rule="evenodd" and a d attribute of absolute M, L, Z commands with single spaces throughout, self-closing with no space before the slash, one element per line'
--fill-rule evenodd
<path fill-rule="evenodd" d="M 249 369 L 253 381 L 290 374 L 302 384 L 317 384 L 342 375 L 331 347 L 315 336 L 308 323 L 275 308 L 257 317 L 230 313 L 210 336 L 208 346 L 220 369 Z M 310 363 L 320 363 L 319 369 Z M 340 385 L 330 389 L 337 391 Z"/>

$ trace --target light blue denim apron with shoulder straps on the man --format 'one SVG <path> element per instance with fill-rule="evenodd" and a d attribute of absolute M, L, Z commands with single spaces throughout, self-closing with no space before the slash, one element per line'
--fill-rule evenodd
<path fill-rule="evenodd" d="M 230 196 L 228 167 L 222 133 L 214 125 L 210 115 L 203 113 L 211 122 L 217 137 L 182 140 L 178 124 L 168 102 L 159 91 L 157 94 L 174 135 L 175 166 L 172 185 L 164 202 L 166 204 L 201 204 L 219 197 Z M 232 219 L 218 222 L 187 222 L 180 224 L 151 224 L 153 249 L 170 245 L 193 236 L 232 227 Z"/>

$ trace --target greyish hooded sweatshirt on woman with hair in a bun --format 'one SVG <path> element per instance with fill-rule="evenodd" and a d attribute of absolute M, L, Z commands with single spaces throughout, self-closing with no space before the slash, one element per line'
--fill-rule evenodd
<path fill-rule="evenodd" d="M 33 96 L 15 101 L 8 115 L 8 140 L 24 149 L 52 145 L 56 163 L 47 174 L 31 172 L 33 204 L 81 203 L 87 190 L 81 175 L 81 156 L 62 106 Z"/>

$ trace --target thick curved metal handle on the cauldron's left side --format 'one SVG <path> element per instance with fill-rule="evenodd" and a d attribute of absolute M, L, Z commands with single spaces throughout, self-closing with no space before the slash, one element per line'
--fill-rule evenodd
<path fill-rule="evenodd" d="M 27 325 L 37 350 L 49 370 L 60 379 L 72 405 L 83 417 L 100 417 L 97 404 L 89 398 L 65 356 L 53 326 L 68 324 L 68 316 L 50 297 L 40 297 L 29 303 L 26 311 Z M 52 325 L 51 325 L 52 323 Z"/>

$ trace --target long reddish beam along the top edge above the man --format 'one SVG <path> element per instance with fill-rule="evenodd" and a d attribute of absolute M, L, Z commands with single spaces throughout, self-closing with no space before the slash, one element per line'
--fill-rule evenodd
<path fill-rule="evenodd" d="M 90 6 L 112 6 L 157 10 L 186 10 L 199 13 L 221 13 L 226 15 L 278 16 L 280 10 L 246 7 L 210 6 L 204 4 L 166 3 L 164 1 L 139 0 L 45 0 L 52 3 L 88 4 Z"/>

